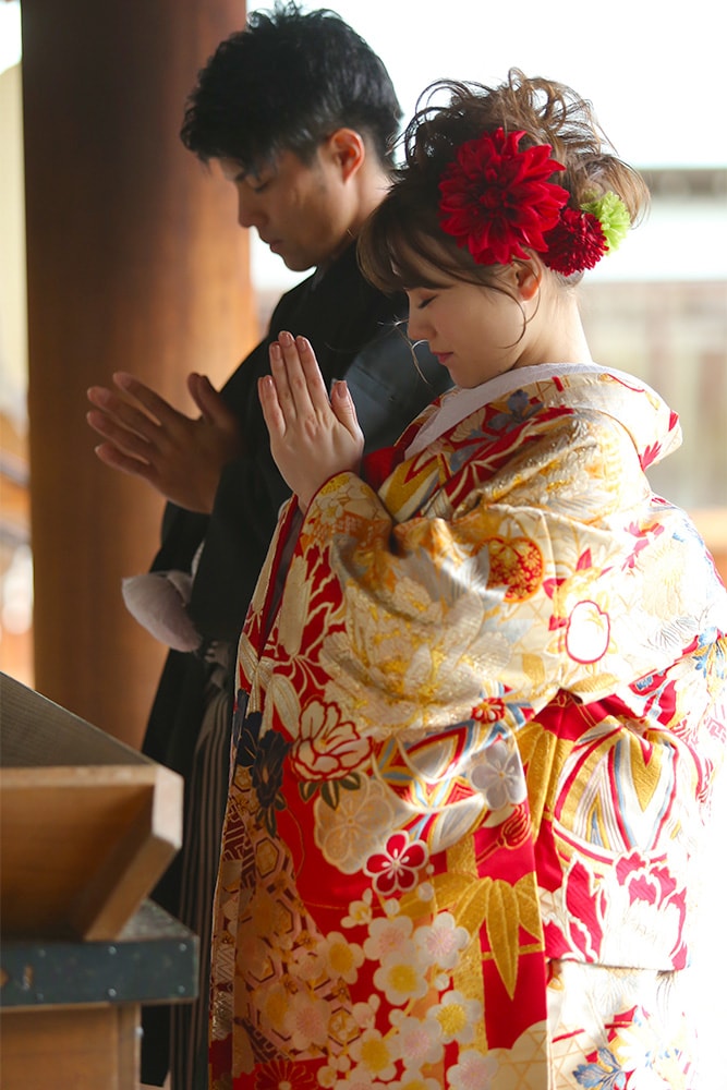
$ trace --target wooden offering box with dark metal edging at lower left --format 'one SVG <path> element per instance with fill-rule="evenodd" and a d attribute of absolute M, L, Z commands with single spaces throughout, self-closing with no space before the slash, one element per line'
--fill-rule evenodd
<path fill-rule="evenodd" d="M 196 994 L 197 940 L 145 900 L 180 776 L 0 674 L 3 1090 L 135 1090 L 141 1003 Z"/>

